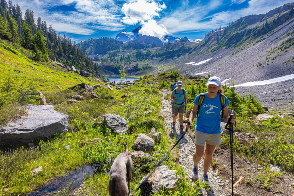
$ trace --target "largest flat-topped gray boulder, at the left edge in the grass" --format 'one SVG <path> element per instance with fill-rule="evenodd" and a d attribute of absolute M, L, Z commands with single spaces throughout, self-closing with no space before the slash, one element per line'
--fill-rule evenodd
<path fill-rule="evenodd" d="M 26 115 L 0 129 L 0 145 L 30 143 L 68 130 L 69 116 L 53 105 L 26 105 Z"/>

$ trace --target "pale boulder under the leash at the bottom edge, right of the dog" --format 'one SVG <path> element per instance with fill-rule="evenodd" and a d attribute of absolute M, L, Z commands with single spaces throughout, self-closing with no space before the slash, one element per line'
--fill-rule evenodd
<path fill-rule="evenodd" d="M 169 170 L 166 165 L 158 167 L 152 176 L 141 187 L 142 194 L 144 196 L 149 196 L 163 189 L 167 191 L 171 190 L 172 192 L 175 191 L 175 185 L 179 180 L 176 177 L 175 172 L 176 170 Z M 146 179 L 147 176 L 143 177 L 140 184 Z"/>

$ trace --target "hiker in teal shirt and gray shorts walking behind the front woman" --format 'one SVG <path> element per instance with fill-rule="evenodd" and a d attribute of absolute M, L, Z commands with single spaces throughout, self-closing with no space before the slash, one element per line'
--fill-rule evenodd
<path fill-rule="evenodd" d="M 183 82 L 178 81 L 177 88 L 171 93 L 171 101 L 173 102 L 173 128 L 176 126 L 177 116 L 179 115 L 180 133 L 183 133 L 183 113 L 185 113 L 185 105 L 187 105 L 187 92 L 183 87 Z"/>

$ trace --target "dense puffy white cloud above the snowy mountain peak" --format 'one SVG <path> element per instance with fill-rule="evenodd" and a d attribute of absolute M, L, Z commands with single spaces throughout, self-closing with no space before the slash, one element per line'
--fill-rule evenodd
<path fill-rule="evenodd" d="M 135 2 L 125 3 L 121 8 L 121 12 L 125 15 L 121 22 L 128 25 L 139 23 L 142 25 L 139 34 L 161 38 L 168 31 L 163 24 L 159 25 L 154 18 L 159 17 L 160 14 L 158 12 L 163 9 L 166 9 L 164 3 L 158 4 L 154 1 L 137 0 Z"/>

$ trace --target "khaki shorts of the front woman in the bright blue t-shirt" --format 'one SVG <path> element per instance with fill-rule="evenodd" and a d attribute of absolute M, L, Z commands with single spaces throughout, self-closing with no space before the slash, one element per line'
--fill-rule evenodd
<path fill-rule="evenodd" d="M 208 134 L 195 130 L 195 144 L 198 146 L 204 146 L 204 144 L 218 146 L 221 144 L 221 133 Z"/>

